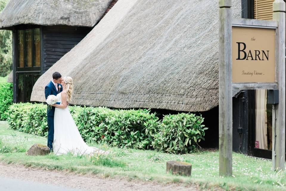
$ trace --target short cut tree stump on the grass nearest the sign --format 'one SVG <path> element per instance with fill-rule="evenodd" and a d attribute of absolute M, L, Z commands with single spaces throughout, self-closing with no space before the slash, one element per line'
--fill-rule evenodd
<path fill-rule="evenodd" d="M 192 164 L 181 161 L 167 161 L 167 173 L 191 176 Z"/>

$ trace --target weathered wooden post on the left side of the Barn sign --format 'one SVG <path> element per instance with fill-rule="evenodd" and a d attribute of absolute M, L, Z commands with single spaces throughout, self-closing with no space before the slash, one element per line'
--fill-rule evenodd
<path fill-rule="evenodd" d="M 219 0 L 219 171 L 232 175 L 231 0 Z"/>

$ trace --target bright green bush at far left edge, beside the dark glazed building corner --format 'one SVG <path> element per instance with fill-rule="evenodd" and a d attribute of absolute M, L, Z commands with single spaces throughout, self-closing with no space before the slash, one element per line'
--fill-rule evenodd
<path fill-rule="evenodd" d="M 13 104 L 13 84 L 8 82 L 0 83 L 0 120 L 7 119 L 5 112 L 11 104 Z"/>

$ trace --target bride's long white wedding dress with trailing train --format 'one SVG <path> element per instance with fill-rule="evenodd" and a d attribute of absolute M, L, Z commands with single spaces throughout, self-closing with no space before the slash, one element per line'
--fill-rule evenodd
<path fill-rule="evenodd" d="M 58 102 L 62 102 L 61 93 L 57 94 Z M 96 147 L 89 147 L 80 135 L 77 125 L 69 112 L 69 108 L 55 108 L 54 115 L 54 153 L 56 155 L 72 152 L 74 155 L 99 153 L 108 154 L 107 151 Z"/>

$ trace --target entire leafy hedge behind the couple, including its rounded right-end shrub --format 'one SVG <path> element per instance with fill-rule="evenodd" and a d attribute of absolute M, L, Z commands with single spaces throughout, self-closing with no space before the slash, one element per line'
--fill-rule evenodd
<path fill-rule="evenodd" d="M 116 147 L 189 153 L 203 139 L 203 118 L 195 114 L 165 115 L 159 120 L 150 110 L 111 110 L 106 107 L 69 106 L 86 142 L 107 142 Z M 13 104 L 8 110 L 10 127 L 47 136 L 46 105 Z"/>

